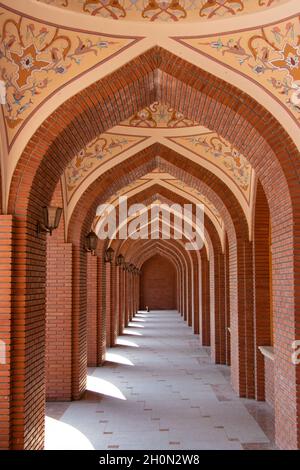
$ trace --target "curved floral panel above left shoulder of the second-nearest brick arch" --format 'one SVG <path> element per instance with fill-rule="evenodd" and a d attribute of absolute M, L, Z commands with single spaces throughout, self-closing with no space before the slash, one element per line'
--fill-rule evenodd
<path fill-rule="evenodd" d="M 105 133 L 90 142 L 75 155 L 65 170 L 68 201 L 82 181 L 97 167 L 142 142 L 144 139 L 145 137 Z"/>

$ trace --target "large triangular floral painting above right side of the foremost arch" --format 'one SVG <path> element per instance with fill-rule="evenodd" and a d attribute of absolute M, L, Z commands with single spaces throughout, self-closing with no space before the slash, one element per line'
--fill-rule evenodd
<path fill-rule="evenodd" d="M 246 75 L 300 122 L 300 16 L 258 29 L 174 39 Z"/>

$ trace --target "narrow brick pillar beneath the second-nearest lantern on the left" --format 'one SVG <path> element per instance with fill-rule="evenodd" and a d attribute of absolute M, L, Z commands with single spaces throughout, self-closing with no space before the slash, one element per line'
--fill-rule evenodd
<path fill-rule="evenodd" d="M 88 366 L 98 365 L 98 259 L 87 255 L 87 344 Z"/>

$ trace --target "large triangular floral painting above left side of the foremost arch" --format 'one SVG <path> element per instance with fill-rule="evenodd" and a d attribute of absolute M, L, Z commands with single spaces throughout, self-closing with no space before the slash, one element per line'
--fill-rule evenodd
<path fill-rule="evenodd" d="M 64 30 L 0 9 L 0 79 L 11 143 L 53 92 L 136 42 L 135 38 Z"/>

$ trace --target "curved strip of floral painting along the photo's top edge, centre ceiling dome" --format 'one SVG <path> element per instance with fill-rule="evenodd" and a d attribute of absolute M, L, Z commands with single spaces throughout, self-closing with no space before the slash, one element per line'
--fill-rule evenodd
<path fill-rule="evenodd" d="M 199 21 L 262 11 L 288 0 L 37 0 L 113 20 Z"/>

